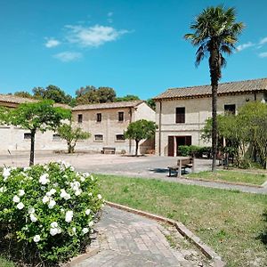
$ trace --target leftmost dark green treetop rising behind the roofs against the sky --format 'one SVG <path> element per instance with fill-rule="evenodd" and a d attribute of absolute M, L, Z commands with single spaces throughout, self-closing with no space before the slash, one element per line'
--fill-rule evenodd
<path fill-rule="evenodd" d="M 39 100 L 53 100 L 56 103 L 70 104 L 72 97 L 66 94 L 60 87 L 55 85 L 48 85 L 45 89 L 43 87 L 33 88 L 34 97 Z"/>

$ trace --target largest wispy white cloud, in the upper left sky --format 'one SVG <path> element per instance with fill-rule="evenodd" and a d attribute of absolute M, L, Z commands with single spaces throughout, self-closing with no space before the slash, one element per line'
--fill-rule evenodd
<path fill-rule="evenodd" d="M 107 42 L 116 41 L 117 38 L 129 32 L 125 29 L 117 30 L 113 27 L 101 26 L 98 24 L 88 28 L 79 25 L 68 25 L 66 28 L 69 30 L 67 35 L 69 43 L 94 47 Z"/>

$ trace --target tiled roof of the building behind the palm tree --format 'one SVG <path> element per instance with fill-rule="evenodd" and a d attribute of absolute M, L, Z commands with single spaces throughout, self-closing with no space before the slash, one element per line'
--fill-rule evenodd
<path fill-rule="evenodd" d="M 239 82 L 223 83 L 218 85 L 218 95 L 235 94 L 246 92 L 267 91 L 267 78 L 246 80 Z M 154 98 L 155 101 L 164 99 L 179 99 L 211 96 L 211 85 L 199 85 L 181 88 L 167 89 L 166 92 L 159 94 Z"/>

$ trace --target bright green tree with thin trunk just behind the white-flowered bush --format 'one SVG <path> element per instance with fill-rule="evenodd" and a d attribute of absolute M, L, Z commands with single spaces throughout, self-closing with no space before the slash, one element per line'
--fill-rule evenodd
<path fill-rule="evenodd" d="M 39 101 L 20 104 L 17 109 L 5 109 L 1 112 L 0 122 L 20 126 L 30 131 L 29 166 L 32 166 L 35 158 L 36 132 L 55 130 L 62 119 L 70 116 L 69 110 L 53 107 L 53 101 Z"/>

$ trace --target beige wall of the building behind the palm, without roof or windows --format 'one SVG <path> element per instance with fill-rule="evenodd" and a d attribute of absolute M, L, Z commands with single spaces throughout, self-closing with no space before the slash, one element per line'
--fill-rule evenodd
<path fill-rule="evenodd" d="M 263 93 L 247 93 L 239 95 L 219 96 L 217 113 L 224 113 L 224 105 L 235 104 L 238 110 L 247 101 L 263 101 Z M 159 125 L 160 103 L 156 103 L 156 123 Z M 175 109 L 185 107 L 185 123 L 175 123 Z M 162 101 L 161 113 L 161 150 L 159 151 L 159 129 L 156 133 L 156 153 L 167 156 L 168 136 L 191 136 L 191 144 L 197 146 L 210 146 L 210 142 L 203 142 L 200 130 L 204 127 L 206 118 L 212 116 L 211 98 L 195 98 L 173 101 Z"/>

